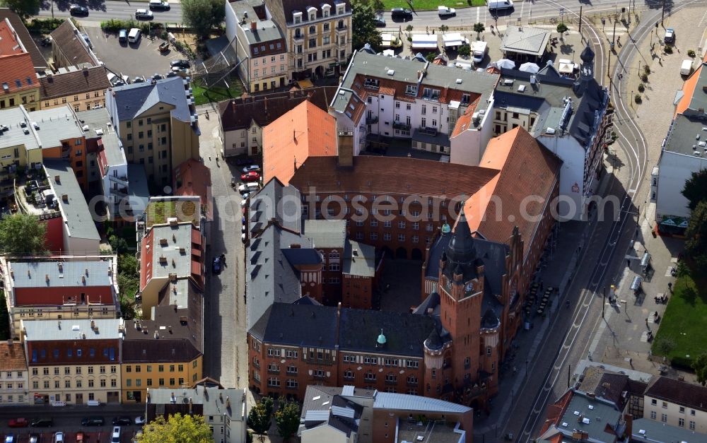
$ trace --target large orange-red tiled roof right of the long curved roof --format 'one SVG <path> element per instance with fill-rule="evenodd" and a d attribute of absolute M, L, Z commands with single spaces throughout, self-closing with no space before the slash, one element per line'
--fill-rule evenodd
<path fill-rule="evenodd" d="M 464 204 L 469 228 L 486 240 L 506 242 L 518 226 L 522 240 L 530 245 L 541 221 L 530 219 L 543 213 L 560 165 L 561 160 L 521 126 L 491 138 L 479 166 L 501 174 Z M 529 196 L 537 198 L 528 201 Z"/>

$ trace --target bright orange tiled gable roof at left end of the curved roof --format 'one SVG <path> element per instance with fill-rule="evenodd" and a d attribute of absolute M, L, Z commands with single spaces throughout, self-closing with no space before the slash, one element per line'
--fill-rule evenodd
<path fill-rule="evenodd" d="M 288 184 L 310 156 L 337 155 L 337 121 L 308 100 L 263 130 L 263 175 Z"/>

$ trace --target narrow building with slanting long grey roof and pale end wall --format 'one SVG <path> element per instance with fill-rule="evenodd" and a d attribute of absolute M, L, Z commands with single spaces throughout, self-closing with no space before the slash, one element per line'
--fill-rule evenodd
<path fill-rule="evenodd" d="M 64 223 L 61 227 L 62 252 L 65 254 L 98 254 L 100 235 L 95 211 L 91 211 L 76 180 L 79 171 L 72 170 L 66 160 L 44 160 L 49 188 L 54 194 Z"/>

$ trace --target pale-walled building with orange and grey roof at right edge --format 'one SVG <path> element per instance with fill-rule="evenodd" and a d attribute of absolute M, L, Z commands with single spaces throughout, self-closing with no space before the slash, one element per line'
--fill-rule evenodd
<path fill-rule="evenodd" d="M 651 174 L 650 201 L 655 201 L 658 230 L 682 235 L 690 218 L 689 202 L 682 195 L 685 182 L 707 167 L 707 134 L 703 132 L 707 88 L 705 61 L 678 91 L 677 107 L 665 139 L 658 165 Z"/>

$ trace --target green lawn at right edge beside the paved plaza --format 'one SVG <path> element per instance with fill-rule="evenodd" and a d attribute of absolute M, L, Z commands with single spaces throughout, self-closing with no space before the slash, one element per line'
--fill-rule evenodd
<path fill-rule="evenodd" d="M 680 366 L 689 366 L 707 350 L 705 288 L 705 282 L 695 283 L 690 276 L 677 279 L 653 341 L 654 355 L 666 355 Z"/>

